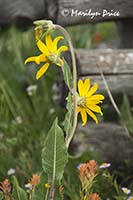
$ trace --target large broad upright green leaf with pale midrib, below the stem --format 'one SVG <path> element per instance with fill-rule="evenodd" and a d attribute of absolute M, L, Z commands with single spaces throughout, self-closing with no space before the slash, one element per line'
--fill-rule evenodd
<path fill-rule="evenodd" d="M 48 175 L 49 183 L 61 180 L 67 160 L 64 134 L 55 119 L 42 150 L 42 167 Z"/>

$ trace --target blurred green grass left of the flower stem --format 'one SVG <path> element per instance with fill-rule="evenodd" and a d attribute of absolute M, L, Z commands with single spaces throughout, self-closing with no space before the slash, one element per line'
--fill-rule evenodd
<path fill-rule="evenodd" d="M 40 154 L 47 131 L 60 112 L 52 100 L 52 88 L 57 71 L 35 80 L 35 64 L 24 65 L 30 54 L 37 54 L 33 30 L 22 33 L 12 27 L 0 38 L 0 176 L 16 168 L 19 176 L 29 176 L 40 169 Z M 51 71 L 50 70 L 50 71 Z M 30 85 L 37 90 L 26 92 Z M 51 112 L 51 108 L 54 110 Z M 18 120 L 19 119 L 19 120 Z M 38 164 L 36 164 L 38 163 Z"/>

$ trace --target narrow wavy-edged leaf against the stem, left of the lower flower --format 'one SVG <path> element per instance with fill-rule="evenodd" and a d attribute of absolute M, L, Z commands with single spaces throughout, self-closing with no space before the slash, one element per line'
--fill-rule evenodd
<path fill-rule="evenodd" d="M 67 108 L 68 112 L 65 115 L 64 130 L 65 130 L 66 138 L 67 138 L 67 137 L 69 137 L 71 130 L 72 130 L 73 106 L 72 106 L 72 95 L 70 92 L 68 94 L 66 108 Z"/>

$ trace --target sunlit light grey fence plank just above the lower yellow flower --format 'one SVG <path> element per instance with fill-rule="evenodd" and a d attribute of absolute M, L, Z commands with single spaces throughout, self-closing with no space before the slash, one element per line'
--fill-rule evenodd
<path fill-rule="evenodd" d="M 76 54 L 81 64 L 81 75 L 99 74 L 97 64 L 104 74 L 133 75 L 133 49 L 77 49 Z"/>

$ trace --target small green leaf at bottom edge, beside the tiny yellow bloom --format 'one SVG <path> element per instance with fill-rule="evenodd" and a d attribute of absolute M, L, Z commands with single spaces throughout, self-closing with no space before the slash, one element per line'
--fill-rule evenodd
<path fill-rule="evenodd" d="M 42 172 L 40 175 L 40 182 L 35 186 L 35 189 L 33 191 L 32 199 L 33 200 L 40 200 L 45 199 L 47 190 L 44 185 L 48 182 L 48 177 L 46 173 Z"/>

